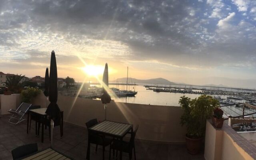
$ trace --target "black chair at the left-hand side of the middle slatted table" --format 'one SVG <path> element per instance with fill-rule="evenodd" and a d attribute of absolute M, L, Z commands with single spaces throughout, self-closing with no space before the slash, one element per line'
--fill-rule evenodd
<path fill-rule="evenodd" d="M 103 160 L 104 160 L 104 152 L 105 152 L 105 147 L 110 145 L 112 143 L 112 139 L 110 138 L 105 138 L 105 136 L 96 134 L 94 132 L 91 132 L 89 130 L 90 127 L 94 126 L 95 124 L 98 123 L 97 119 L 92 119 L 88 122 L 86 122 L 86 127 L 88 130 L 88 148 L 87 148 L 87 154 L 86 154 L 86 159 L 90 160 L 90 143 L 96 144 L 96 152 L 98 149 L 98 145 L 102 146 L 103 150 Z"/>

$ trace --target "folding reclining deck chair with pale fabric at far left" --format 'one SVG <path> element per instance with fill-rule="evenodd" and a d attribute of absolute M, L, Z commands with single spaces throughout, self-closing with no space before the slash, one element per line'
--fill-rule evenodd
<path fill-rule="evenodd" d="M 13 109 L 8 110 L 8 112 L 12 114 L 12 116 L 10 116 L 9 123 L 18 124 L 26 120 L 23 117 L 28 112 L 28 109 L 30 108 L 31 105 L 32 104 L 22 102 L 22 104 L 20 104 L 20 106 L 16 110 L 13 110 Z M 12 122 L 12 120 L 14 120 L 14 122 Z"/>

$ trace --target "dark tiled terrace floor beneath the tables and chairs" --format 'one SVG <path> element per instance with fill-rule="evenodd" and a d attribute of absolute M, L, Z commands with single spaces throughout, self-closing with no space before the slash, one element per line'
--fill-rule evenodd
<path fill-rule="evenodd" d="M 35 123 L 29 134 L 26 133 L 26 122 L 14 125 L 8 123 L 8 116 L 0 118 L 0 160 L 12 160 L 11 150 L 29 143 L 37 143 L 39 150 L 50 147 L 48 130 L 44 132 L 44 143 L 35 135 Z M 184 145 L 168 145 L 153 142 L 136 141 L 137 160 L 204 160 L 203 154 L 190 155 Z M 54 128 L 54 149 L 76 159 L 85 160 L 87 150 L 87 130 L 71 124 L 64 123 L 64 136 L 60 138 L 59 127 Z M 91 145 L 91 160 L 102 160 L 102 148 Z M 109 146 L 105 151 L 105 159 L 109 159 Z M 123 160 L 128 160 L 123 154 Z"/>

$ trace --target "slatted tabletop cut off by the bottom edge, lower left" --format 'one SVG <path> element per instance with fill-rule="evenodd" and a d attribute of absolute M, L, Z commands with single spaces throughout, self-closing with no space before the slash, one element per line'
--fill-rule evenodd
<path fill-rule="evenodd" d="M 72 158 L 52 149 L 47 148 L 45 150 L 30 154 L 26 157 L 21 158 L 21 160 L 72 160 Z"/>

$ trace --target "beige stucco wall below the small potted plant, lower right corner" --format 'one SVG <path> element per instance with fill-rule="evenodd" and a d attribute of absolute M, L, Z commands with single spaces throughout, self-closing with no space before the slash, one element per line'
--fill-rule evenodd
<path fill-rule="evenodd" d="M 254 150 L 256 151 L 256 147 L 252 143 L 227 124 L 221 129 L 216 129 L 210 120 L 206 122 L 204 150 L 206 160 L 253 160 Z"/>

